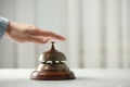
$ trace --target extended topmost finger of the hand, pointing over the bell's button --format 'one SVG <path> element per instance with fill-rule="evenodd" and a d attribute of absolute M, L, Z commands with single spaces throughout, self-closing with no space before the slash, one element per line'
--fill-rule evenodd
<path fill-rule="evenodd" d="M 53 32 L 49 32 L 49 30 L 35 29 L 34 34 L 36 36 L 51 37 L 52 39 L 57 39 L 57 40 L 62 40 L 62 41 L 66 39 L 65 37 L 58 35 L 58 34 L 55 34 Z"/>

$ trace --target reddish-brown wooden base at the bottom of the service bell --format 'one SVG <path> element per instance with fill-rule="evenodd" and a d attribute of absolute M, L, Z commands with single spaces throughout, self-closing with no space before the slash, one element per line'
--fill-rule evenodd
<path fill-rule="evenodd" d="M 65 72 L 50 72 L 50 71 L 34 71 L 30 75 L 30 79 L 35 80 L 65 80 L 65 79 L 75 79 L 75 75 L 72 71 Z"/>

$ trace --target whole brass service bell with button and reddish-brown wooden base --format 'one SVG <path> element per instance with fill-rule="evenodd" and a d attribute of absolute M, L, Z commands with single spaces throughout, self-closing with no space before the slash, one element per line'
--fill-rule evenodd
<path fill-rule="evenodd" d="M 54 41 L 52 41 L 51 50 L 43 52 L 39 61 L 40 64 L 30 74 L 31 79 L 62 80 L 76 78 L 74 73 L 63 62 L 66 61 L 65 54 L 55 50 Z"/>

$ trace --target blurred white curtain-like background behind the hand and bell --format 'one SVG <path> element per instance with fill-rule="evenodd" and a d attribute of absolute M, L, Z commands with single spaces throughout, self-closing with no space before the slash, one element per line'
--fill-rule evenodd
<path fill-rule="evenodd" d="M 69 67 L 130 67 L 130 0 L 0 0 L 0 16 L 67 38 L 56 48 Z M 48 45 L 0 40 L 0 67 L 36 67 Z"/>

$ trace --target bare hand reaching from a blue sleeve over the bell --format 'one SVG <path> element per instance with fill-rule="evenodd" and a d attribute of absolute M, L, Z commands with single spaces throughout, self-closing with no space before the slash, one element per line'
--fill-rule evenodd
<path fill-rule="evenodd" d="M 42 30 L 32 25 L 10 22 L 5 35 L 15 42 L 47 44 L 49 40 L 65 40 L 65 37 L 53 32 Z"/>

